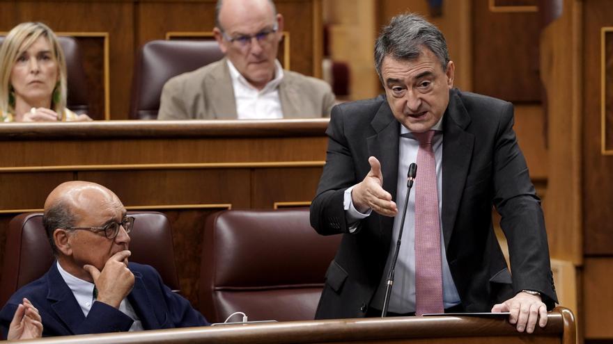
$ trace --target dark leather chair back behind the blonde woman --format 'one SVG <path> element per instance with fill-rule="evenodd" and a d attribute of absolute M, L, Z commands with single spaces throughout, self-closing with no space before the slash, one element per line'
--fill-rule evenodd
<path fill-rule="evenodd" d="M 69 36 L 58 36 L 58 41 L 64 52 L 66 59 L 66 78 L 68 83 L 68 99 L 66 107 L 75 113 L 88 113 L 89 97 L 85 69 L 81 58 L 79 44 L 75 38 Z M 4 42 L 4 36 L 0 36 L 0 45 Z M 100 114 L 104 115 L 104 114 Z M 95 120 L 102 120 L 103 117 L 90 116 Z"/>

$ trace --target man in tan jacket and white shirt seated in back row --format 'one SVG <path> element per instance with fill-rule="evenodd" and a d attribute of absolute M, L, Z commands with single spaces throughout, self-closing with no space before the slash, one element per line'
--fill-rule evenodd
<path fill-rule="evenodd" d="M 213 33 L 225 58 L 166 82 L 157 119 L 329 116 L 330 86 L 284 70 L 277 60 L 282 31 L 272 0 L 218 0 Z"/>

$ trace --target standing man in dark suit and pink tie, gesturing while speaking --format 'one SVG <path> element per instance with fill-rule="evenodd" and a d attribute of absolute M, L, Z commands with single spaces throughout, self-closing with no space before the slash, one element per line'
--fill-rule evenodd
<path fill-rule="evenodd" d="M 343 240 L 316 318 L 380 316 L 405 176 L 417 161 L 388 314 L 510 311 L 518 331 L 545 326 L 557 300 L 513 106 L 454 89 L 444 37 L 417 15 L 394 17 L 383 29 L 375 67 L 385 95 L 336 106 L 327 129 L 311 224 Z M 430 189 L 420 191 L 426 181 Z M 512 275 L 492 206 L 502 215 Z"/>

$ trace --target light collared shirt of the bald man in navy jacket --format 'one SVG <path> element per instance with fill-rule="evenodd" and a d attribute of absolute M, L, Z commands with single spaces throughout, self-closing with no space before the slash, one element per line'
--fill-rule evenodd
<path fill-rule="evenodd" d="M 77 299 L 77 303 L 79 304 L 79 306 L 81 306 L 81 311 L 83 311 L 83 315 L 87 317 L 91 309 L 91 306 L 93 305 L 94 302 L 96 302 L 96 300 L 94 300 L 93 298 L 94 284 L 89 281 L 85 281 L 83 279 L 70 275 L 68 271 L 62 268 L 62 265 L 60 265 L 59 261 L 56 262 L 56 264 L 57 264 L 58 271 L 60 272 L 62 279 L 66 282 L 66 284 L 68 285 L 68 288 L 72 290 L 72 295 L 75 295 L 75 299 Z M 124 298 L 123 300 L 121 300 L 121 304 L 119 304 L 119 311 L 121 311 L 126 316 L 129 316 L 130 318 L 132 318 L 132 320 L 134 320 L 134 322 L 132 322 L 132 326 L 130 327 L 129 331 L 142 331 L 143 330 L 143 325 L 141 323 L 141 320 L 137 316 L 137 313 L 134 311 L 134 309 L 132 308 L 132 305 L 127 300 L 127 298 Z"/>

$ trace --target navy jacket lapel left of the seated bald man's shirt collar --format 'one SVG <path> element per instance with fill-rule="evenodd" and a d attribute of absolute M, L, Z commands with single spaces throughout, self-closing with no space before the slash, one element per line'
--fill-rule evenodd
<path fill-rule="evenodd" d="M 61 277 L 56 261 L 47 273 L 47 285 L 49 286 L 47 300 L 49 300 L 51 308 L 59 320 L 74 334 L 77 327 L 85 320 L 85 316 L 77 303 L 77 299 L 75 299 L 75 295 L 72 295 L 72 291 Z"/>

